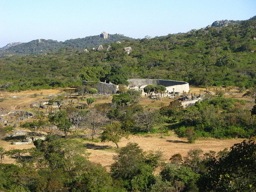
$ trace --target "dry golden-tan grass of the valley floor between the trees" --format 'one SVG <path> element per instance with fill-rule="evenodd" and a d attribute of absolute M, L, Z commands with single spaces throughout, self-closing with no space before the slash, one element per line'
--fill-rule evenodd
<path fill-rule="evenodd" d="M 200 90 L 204 90 L 205 88 L 190 86 L 190 92 L 199 94 Z M 57 94 L 64 92 L 60 88 L 52 89 L 52 90 L 38 90 L 38 91 L 23 91 L 17 93 L 8 93 L 8 92 L 0 92 L 0 98 L 6 98 L 0 102 L 0 108 L 9 108 L 10 110 L 32 110 L 30 108 L 30 104 L 39 101 L 47 101 L 49 99 L 44 98 L 49 94 Z M 213 92 L 213 89 L 210 89 L 210 92 Z M 33 96 L 34 94 L 43 94 L 43 96 Z M 11 96 L 23 96 L 18 98 L 10 98 Z M 30 95 L 30 96 L 26 96 Z M 143 96 L 144 97 L 144 96 Z M 225 94 L 225 98 L 242 98 L 242 94 Z M 110 103 L 112 96 L 100 96 L 100 98 L 96 101 L 97 103 Z M 242 98 L 244 100 L 252 101 L 251 98 Z M 169 98 L 164 98 L 163 101 L 155 101 L 146 99 L 140 102 L 141 105 L 144 105 L 145 108 L 160 108 L 162 106 L 166 106 L 170 103 Z M 88 152 L 91 153 L 90 160 L 92 162 L 100 163 L 103 166 L 109 166 L 114 161 L 112 157 L 116 153 L 116 145 L 113 143 L 101 143 L 101 142 L 90 142 L 88 140 L 82 140 L 81 142 L 87 143 L 86 148 Z M 169 158 L 176 153 L 182 154 L 182 156 L 186 156 L 187 152 L 190 149 L 201 148 L 204 153 L 209 152 L 210 150 L 219 152 L 224 148 L 230 148 L 235 143 L 242 142 L 242 139 L 228 139 L 228 140 L 217 140 L 213 138 L 205 138 L 196 140 L 195 144 L 188 144 L 186 139 L 181 139 L 174 134 L 174 132 L 170 132 L 168 136 L 164 136 L 164 138 L 160 138 L 160 134 L 149 134 L 149 135 L 131 135 L 129 139 L 122 138 L 119 143 L 120 147 L 126 146 L 128 142 L 136 142 L 139 146 L 144 150 L 161 150 L 163 152 L 163 158 L 166 162 L 168 162 Z M 32 148 L 33 144 L 29 145 L 11 145 L 10 141 L 0 140 L 0 146 L 4 147 L 6 150 L 11 149 L 23 149 L 23 148 Z M 12 163 L 14 159 L 5 157 L 4 163 Z"/>

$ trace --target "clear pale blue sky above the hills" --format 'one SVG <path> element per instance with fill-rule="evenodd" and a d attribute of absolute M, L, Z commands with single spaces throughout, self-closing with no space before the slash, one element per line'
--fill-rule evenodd
<path fill-rule="evenodd" d="M 0 48 L 36 39 L 164 36 L 216 20 L 247 20 L 256 0 L 0 0 Z"/>

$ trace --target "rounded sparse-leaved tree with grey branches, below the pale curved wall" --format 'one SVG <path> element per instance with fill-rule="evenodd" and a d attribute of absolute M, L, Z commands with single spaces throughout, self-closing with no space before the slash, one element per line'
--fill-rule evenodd
<path fill-rule="evenodd" d="M 160 123 L 162 118 L 157 110 L 143 111 L 135 114 L 135 121 L 140 130 L 146 130 L 148 133 L 154 125 Z"/>

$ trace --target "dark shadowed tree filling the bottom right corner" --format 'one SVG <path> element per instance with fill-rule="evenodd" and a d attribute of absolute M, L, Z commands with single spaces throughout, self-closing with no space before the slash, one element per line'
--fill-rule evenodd
<path fill-rule="evenodd" d="M 212 158 L 208 172 L 200 178 L 200 191 L 237 192 L 256 190 L 256 144 L 243 141 L 234 144 L 227 156 Z"/>

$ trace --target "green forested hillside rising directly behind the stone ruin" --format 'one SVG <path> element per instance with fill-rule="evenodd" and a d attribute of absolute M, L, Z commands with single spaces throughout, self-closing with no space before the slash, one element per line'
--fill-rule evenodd
<path fill-rule="evenodd" d="M 112 40 L 102 44 L 102 51 L 66 47 L 48 54 L 2 56 L 0 88 L 19 91 L 75 86 L 82 80 L 127 84 L 128 78 L 156 78 L 242 91 L 256 85 L 255 18 L 163 38 L 126 39 L 121 44 Z M 124 51 L 128 46 L 130 54 Z"/>

